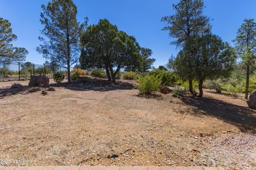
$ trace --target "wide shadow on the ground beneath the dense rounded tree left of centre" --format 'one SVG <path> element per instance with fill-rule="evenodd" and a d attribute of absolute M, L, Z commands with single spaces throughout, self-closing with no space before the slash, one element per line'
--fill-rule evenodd
<path fill-rule="evenodd" d="M 72 81 L 71 83 L 50 84 L 52 87 L 64 87 L 76 91 L 112 91 L 112 90 L 132 90 L 133 84 L 128 82 L 116 81 L 115 83 L 105 79 L 83 78 Z"/>

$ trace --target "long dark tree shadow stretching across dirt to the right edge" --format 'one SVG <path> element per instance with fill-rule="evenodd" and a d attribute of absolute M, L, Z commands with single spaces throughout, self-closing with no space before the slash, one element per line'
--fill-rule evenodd
<path fill-rule="evenodd" d="M 178 113 L 191 113 L 195 116 L 209 115 L 237 126 L 242 132 L 256 133 L 256 111 L 244 106 L 238 106 L 213 98 L 181 99 L 183 103 L 193 106 L 189 111 Z M 191 112 L 192 110 L 192 112 Z"/>

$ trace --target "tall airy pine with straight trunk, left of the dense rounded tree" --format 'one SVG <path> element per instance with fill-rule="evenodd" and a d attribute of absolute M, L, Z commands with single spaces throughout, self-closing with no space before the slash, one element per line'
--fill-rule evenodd
<path fill-rule="evenodd" d="M 42 5 L 41 23 L 44 29 L 39 37 L 43 42 L 37 47 L 46 59 L 57 62 L 67 68 L 70 82 L 70 66 L 79 58 L 79 35 L 83 32 L 87 18 L 77 22 L 77 8 L 72 0 L 53 0 L 47 6 Z M 46 39 L 45 39 L 46 38 Z"/>

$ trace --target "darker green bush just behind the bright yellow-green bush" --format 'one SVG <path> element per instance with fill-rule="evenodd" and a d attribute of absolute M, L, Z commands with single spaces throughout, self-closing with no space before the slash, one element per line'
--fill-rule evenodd
<path fill-rule="evenodd" d="M 175 73 L 167 71 L 167 70 L 161 70 L 156 69 L 153 71 L 148 72 L 149 75 L 154 75 L 155 77 L 161 78 L 163 86 L 171 86 L 174 85 L 177 81 L 177 76 Z"/>

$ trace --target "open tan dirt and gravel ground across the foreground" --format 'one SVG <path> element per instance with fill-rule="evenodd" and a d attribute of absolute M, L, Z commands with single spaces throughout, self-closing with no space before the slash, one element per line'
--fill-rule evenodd
<path fill-rule="evenodd" d="M 13 83 L 26 87 L 15 91 Z M 207 89 L 204 98 L 142 98 L 131 83 L 89 79 L 51 84 L 55 91 L 43 96 L 28 92 L 27 84 L 0 82 L 0 160 L 256 166 L 256 112 L 241 98 Z"/>

